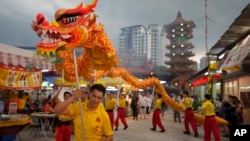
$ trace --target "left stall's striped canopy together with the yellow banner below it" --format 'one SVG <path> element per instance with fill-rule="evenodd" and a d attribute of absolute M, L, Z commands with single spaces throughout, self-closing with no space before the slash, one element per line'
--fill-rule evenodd
<path fill-rule="evenodd" d="M 39 89 L 41 70 L 54 70 L 54 65 L 34 55 L 35 52 L 0 43 L 0 89 Z"/>

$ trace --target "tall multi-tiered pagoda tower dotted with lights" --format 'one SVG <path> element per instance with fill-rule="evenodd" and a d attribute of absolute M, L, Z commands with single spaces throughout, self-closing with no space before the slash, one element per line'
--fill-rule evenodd
<path fill-rule="evenodd" d="M 166 45 L 168 60 L 165 64 L 168 66 L 167 72 L 174 76 L 187 76 L 195 72 L 197 63 L 190 60 L 195 54 L 192 52 L 194 48 L 190 39 L 193 38 L 193 21 L 186 21 L 182 18 L 179 11 L 174 22 L 164 25 L 166 38 L 169 44 Z"/>

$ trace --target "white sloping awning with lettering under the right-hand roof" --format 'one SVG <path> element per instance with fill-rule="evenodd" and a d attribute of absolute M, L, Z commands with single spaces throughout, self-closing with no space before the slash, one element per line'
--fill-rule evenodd
<path fill-rule="evenodd" d="M 250 35 L 228 51 L 223 59 L 221 68 L 223 70 L 239 71 L 242 69 L 241 64 L 250 52 Z"/>

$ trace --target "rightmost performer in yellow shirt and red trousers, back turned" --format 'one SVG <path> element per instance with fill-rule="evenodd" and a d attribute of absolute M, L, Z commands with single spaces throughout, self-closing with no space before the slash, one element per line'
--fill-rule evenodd
<path fill-rule="evenodd" d="M 211 140 L 211 132 L 214 135 L 215 141 L 220 141 L 220 129 L 215 118 L 215 105 L 211 102 L 211 95 L 205 94 L 205 101 L 202 103 L 202 108 L 197 112 L 203 111 L 205 116 L 204 122 L 204 141 Z"/>

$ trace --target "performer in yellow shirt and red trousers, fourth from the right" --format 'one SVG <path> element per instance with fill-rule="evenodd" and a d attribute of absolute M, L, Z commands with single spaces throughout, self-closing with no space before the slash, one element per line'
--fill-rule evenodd
<path fill-rule="evenodd" d="M 122 124 L 124 125 L 123 129 L 128 128 L 128 124 L 126 121 L 126 99 L 125 99 L 125 94 L 121 94 L 119 98 L 119 107 L 117 109 L 117 118 L 115 120 L 115 131 L 118 130 L 119 127 L 119 119 L 121 119 Z"/>

